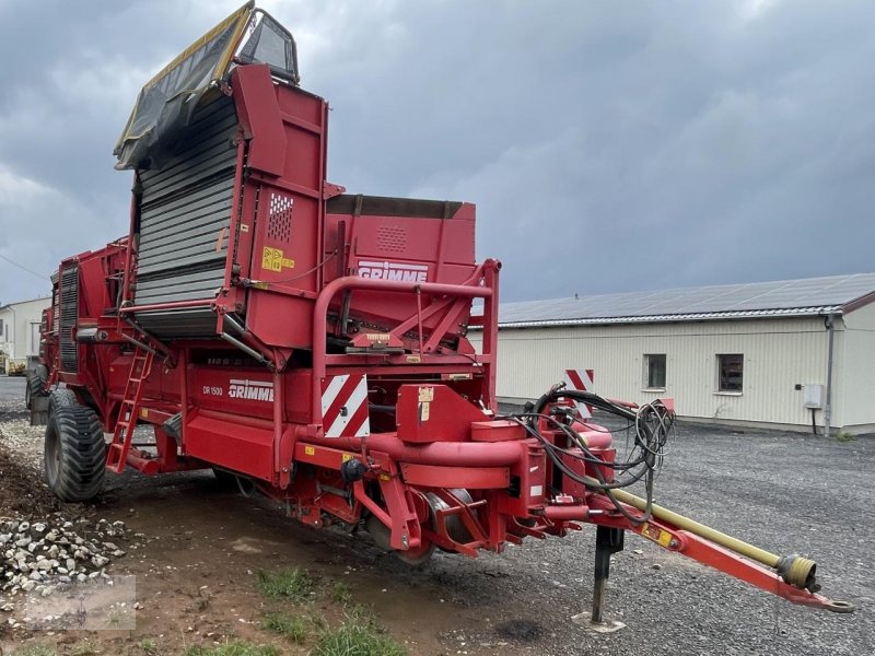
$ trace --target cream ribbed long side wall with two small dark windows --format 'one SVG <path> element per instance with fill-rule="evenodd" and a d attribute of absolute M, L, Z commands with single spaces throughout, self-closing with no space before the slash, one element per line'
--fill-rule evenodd
<path fill-rule="evenodd" d="M 838 324 L 837 352 L 844 337 Z M 875 339 L 875 333 L 866 336 Z M 469 338 L 477 343 L 479 333 Z M 666 354 L 664 393 L 643 389 L 643 356 L 649 353 Z M 744 354 L 742 394 L 715 391 L 719 353 Z M 803 407 L 803 391 L 794 387 L 826 385 L 826 366 L 822 317 L 508 328 L 499 331 L 498 396 L 537 398 L 562 379 L 565 368 L 592 368 L 604 396 L 632 401 L 672 396 L 681 417 L 806 426 L 810 412 Z M 833 385 L 836 399 L 848 383 L 833 373 Z M 875 406 L 870 406 L 875 422 Z M 822 423 L 819 412 L 817 421 Z M 835 414 L 833 425 L 840 422 Z"/>

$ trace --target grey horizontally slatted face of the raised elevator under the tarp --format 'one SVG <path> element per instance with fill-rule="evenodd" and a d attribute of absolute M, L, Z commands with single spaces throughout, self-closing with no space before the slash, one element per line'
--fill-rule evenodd
<path fill-rule="evenodd" d="M 141 171 L 140 243 L 135 305 L 212 298 L 224 281 L 234 196 L 237 117 L 222 96 L 199 109 L 174 157 Z M 214 335 L 203 309 L 137 313 L 162 337 Z"/>

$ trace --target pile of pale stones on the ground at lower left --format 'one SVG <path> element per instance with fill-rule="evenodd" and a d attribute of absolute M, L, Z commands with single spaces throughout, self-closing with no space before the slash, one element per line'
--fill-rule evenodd
<path fill-rule="evenodd" d="M 12 612 L 21 594 L 47 597 L 105 577 L 110 560 L 125 555 L 117 542 L 129 539 L 124 522 L 70 522 L 62 513 L 44 522 L 0 518 L 0 610 Z"/>

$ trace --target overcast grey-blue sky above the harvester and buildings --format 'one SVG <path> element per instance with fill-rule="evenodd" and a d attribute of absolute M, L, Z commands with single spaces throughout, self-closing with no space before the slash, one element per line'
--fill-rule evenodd
<path fill-rule="evenodd" d="M 140 86 L 240 1 L 0 0 L 0 255 L 126 233 Z M 261 4 L 329 179 L 478 206 L 504 300 L 875 271 L 875 2 Z M 0 259 L 0 302 L 49 291 Z"/>

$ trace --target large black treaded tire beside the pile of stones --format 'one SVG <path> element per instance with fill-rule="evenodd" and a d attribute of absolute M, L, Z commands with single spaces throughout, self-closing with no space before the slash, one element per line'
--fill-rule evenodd
<path fill-rule="evenodd" d="M 60 406 L 49 414 L 44 452 L 46 483 L 62 501 L 89 501 L 103 489 L 106 443 L 97 414 Z"/>

